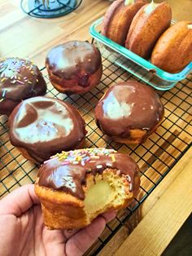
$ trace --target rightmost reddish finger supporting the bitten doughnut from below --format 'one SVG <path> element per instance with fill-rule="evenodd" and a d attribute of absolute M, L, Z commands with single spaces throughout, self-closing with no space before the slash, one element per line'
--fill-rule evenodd
<path fill-rule="evenodd" d="M 103 214 L 103 216 L 96 218 L 88 227 L 77 232 L 66 243 L 66 255 L 80 256 L 84 254 L 90 245 L 96 241 L 98 236 L 102 234 L 106 223 L 115 217 L 116 212 Z"/>

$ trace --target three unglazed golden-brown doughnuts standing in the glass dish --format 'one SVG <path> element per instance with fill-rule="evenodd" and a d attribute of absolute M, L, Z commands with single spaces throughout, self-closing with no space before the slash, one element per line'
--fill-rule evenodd
<path fill-rule="evenodd" d="M 143 5 L 113 2 L 104 17 L 103 35 L 164 71 L 181 72 L 192 61 L 192 23 L 181 21 L 170 27 L 172 10 L 167 2 Z"/>

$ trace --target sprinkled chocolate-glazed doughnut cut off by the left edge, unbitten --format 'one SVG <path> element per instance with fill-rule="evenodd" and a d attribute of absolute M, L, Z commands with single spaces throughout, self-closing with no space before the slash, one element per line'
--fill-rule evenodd
<path fill-rule="evenodd" d="M 0 114 L 10 115 L 23 99 L 46 94 L 41 72 L 29 60 L 0 60 Z"/>

